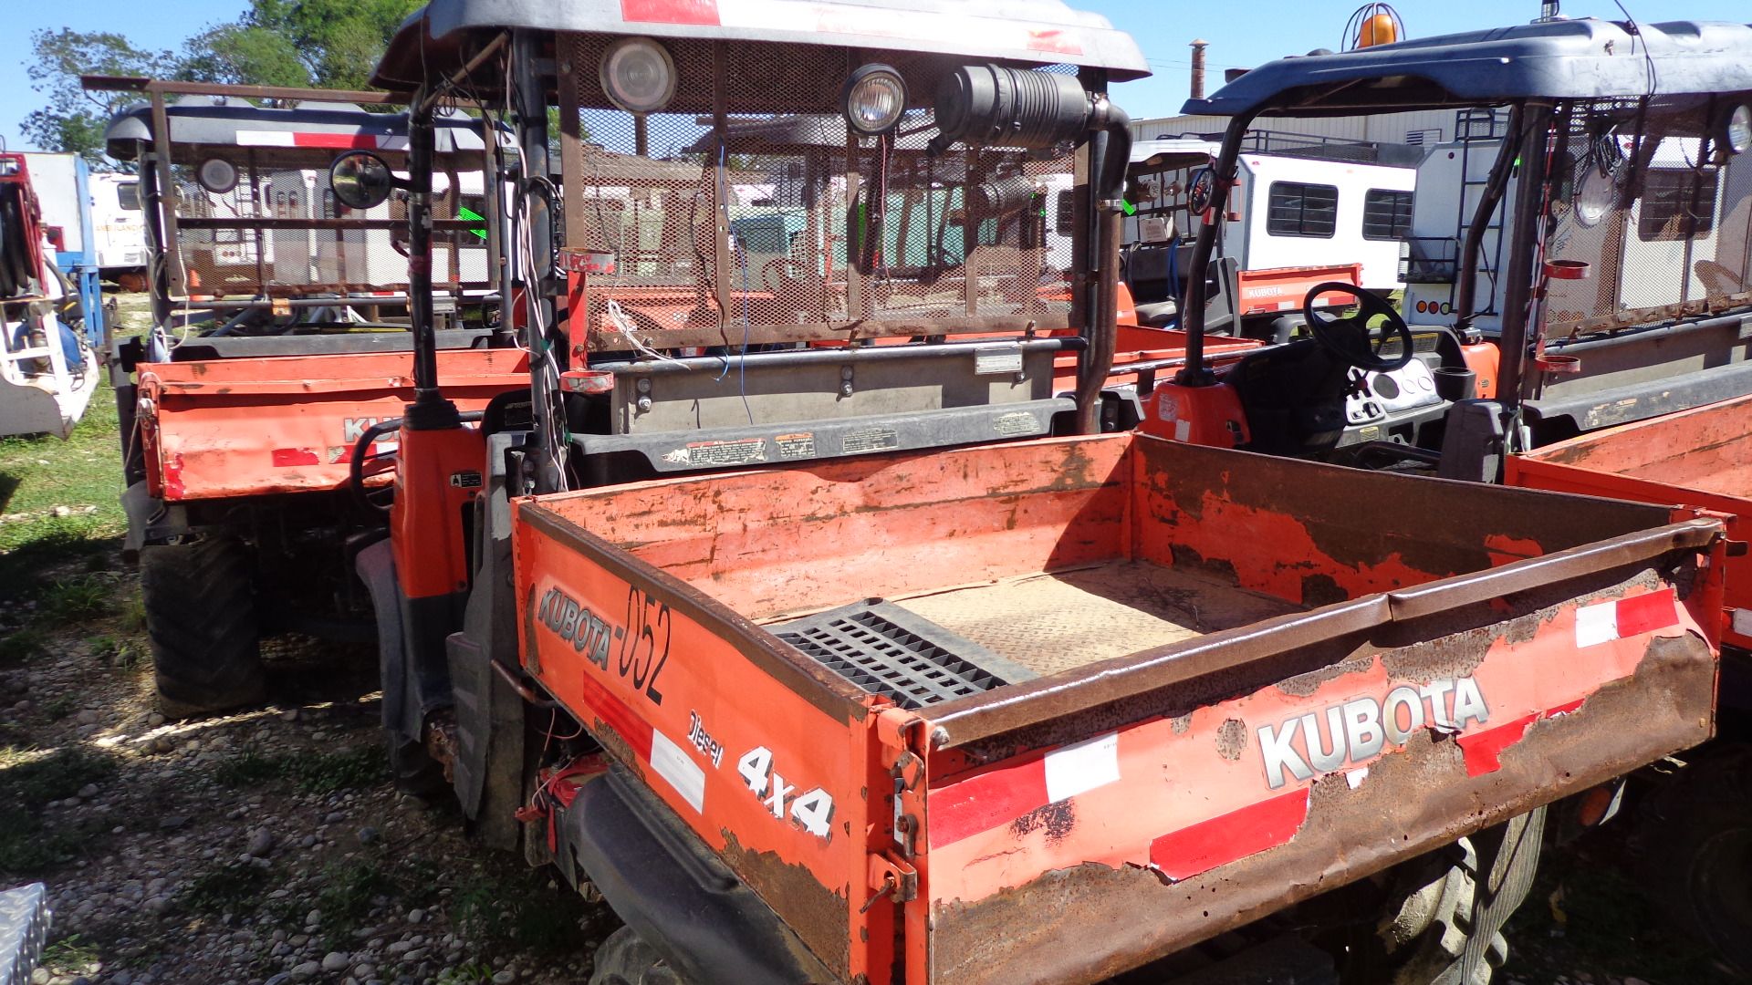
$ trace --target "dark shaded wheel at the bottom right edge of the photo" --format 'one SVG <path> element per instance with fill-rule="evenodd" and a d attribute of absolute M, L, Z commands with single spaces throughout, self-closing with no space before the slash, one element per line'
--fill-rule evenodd
<path fill-rule="evenodd" d="M 1675 924 L 1752 974 L 1752 748 L 1694 761 L 1650 797 L 1645 878 Z"/>

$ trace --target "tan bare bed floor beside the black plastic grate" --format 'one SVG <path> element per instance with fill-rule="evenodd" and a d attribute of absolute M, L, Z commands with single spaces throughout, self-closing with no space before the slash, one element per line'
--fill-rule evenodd
<path fill-rule="evenodd" d="M 1267 594 L 1144 561 L 890 601 L 1039 675 L 1300 612 Z"/>

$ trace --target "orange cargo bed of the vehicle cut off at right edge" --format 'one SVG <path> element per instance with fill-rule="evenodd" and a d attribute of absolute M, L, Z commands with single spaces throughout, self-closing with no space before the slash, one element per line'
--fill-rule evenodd
<path fill-rule="evenodd" d="M 1727 536 L 1752 540 L 1752 396 L 1510 456 L 1503 482 L 1640 503 L 1684 503 L 1727 515 Z M 1752 556 L 1731 556 L 1726 566 L 1722 641 L 1752 648 Z"/>

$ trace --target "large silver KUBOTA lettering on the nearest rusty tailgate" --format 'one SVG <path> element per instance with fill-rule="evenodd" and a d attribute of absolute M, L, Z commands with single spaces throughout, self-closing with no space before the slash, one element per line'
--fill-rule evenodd
<path fill-rule="evenodd" d="M 1361 764 L 1386 745 L 1405 745 L 1424 726 L 1459 731 L 1487 720 L 1491 710 L 1470 677 L 1395 687 L 1384 701 L 1353 698 L 1323 713 L 1309 712 L 1277 726 L 1261 726 L 1265 783 L 1275 790 L 1288 782 L 1286 771 L 1289 778 L 1312 780 L 1321 773 L 1337 773 L 1346 762 Z"/>

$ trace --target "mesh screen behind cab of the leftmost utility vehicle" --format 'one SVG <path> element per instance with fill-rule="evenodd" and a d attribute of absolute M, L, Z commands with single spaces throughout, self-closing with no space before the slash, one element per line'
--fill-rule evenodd
<path fill-rule="evenodd" d="M 406 203 L 401 195 L 366 212 L 335 200 L 328 159 L 265 163 L 245 149 L 203 149 L 224 156 L 237 186 L 208 191 L 194 163 L 173 163 L 175 256 L 189 296 L 399 294 L 408 282 Z M 333 156 L 333 151 L 328 152 Z M 403 167 L 389 154 L 391 167 Z M 203 158 L 205 159 L 205 158 Z M 487 214 L 480 172 L 433 175 L 433 289 L 468 294 L 489 289 Z M 457 228 L 473 224 L 482 231 Z"/>

